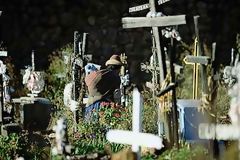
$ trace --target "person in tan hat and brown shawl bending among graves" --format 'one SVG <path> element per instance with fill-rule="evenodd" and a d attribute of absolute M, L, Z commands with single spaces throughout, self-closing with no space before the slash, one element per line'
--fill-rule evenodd
<path fill-rule="evenodd" d="M 105 69 L 93 71 L 85 77 L 88 89 L 85 117 L 89 117 L 92 110 L 98 110 L 101 102 L 114 102 L 114 92 L 120 87 L 119 73 L 123 65 L 120 56 L 112 55 L 105 65 Z"/>

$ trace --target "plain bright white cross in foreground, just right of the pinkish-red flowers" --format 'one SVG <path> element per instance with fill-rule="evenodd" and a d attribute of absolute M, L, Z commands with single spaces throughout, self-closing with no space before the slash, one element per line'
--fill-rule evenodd
<path fill-rule="evenodd" d="M 162 138 L 142 131 L 142 96 L 137 88 L 133 90 L 133 117 L 132 131 L 110 130 L 107 132 L 107 140 L 113 143 L 132 145 L 132 151 L 137 153 L 138 159 L 141 158 L 141 146 L 161 149 L 163 147 Z"/>

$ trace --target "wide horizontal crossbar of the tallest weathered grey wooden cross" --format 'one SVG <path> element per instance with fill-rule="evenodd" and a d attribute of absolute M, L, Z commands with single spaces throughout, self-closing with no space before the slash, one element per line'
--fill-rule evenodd
<path fill-rule="evenodd" d="M 125 17 L 122 18 L 123 28 L 164 27 L 186 24 L 185 15 L 164 17 Z"/>

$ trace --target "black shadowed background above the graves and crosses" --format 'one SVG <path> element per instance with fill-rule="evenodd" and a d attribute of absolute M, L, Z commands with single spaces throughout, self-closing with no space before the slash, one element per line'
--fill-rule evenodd
<path fill-rule="evenodd" d="M 145 16 L 148 11 L 134 14 L 128 8 L 146 0 L 1 0 L 0 40 L 18 68 L 31 64 L 35 50 L 37 69 L 48 66 L 48 55 L 73 42 L 73 32 L 88 32 L 88 52 L 102 64 L 112 53 L 126 52 L 134 65 L 151 54 L 150 29 L 121 27 L 124 16 Z M 157 1 L 156 1 L 157 2 Z M 157 3 L 156 3 L 157 4 Z M 171 0 L 157 11 L 166 15 L 186 14 L 187 25 L 179 27 L 183 41 L 193 43 L 193 16 L 200 15 L 202 40 L 217 42 L 217 61 L 228 64 L 231 47 L 239 32 L 239 0 Z M 224 57 L 224 58 L 223 58 Z"/>

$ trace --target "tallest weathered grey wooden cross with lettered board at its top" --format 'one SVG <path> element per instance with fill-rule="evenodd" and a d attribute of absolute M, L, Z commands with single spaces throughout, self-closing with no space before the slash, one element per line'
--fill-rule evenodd
<path fill-rule="evenodd" d="M 167 2 L 167 0 L 160 0 L 159 4 Z M 158 27 L 164 27 L 164 26 L 174 26 L 174 25 L 181 25 L 186 24 L 185 15 L 178 15 L 178 16 L 162 16 L 158 17 L 158 14 L 156 13 L 155 8 L 155 2 L 154 0 L 149 0 L 149 6 L 148 7 L 139 7 L 142 9 L 150 8 L 150 16 L 148 17 L 124 17 L 122 18 L 123 28 L 139 28 L 139 27 L 151 27 L 152 28 L 152 36 L 153 36 L 153 56 L 156 55 L 159 65 L 159 77 L 156 77 L 158 80 L 158 83 L 161 84 L 165 79 L 165 60 L 163 60 L 163 54 L 161 53 L 161 47 L 160 47 L 160 37 L 159 37 L 159 31 Z M 137 8 L 137 7 L 136 7 Z M 165 117 L 164 115 L 161 116 L 162 118 Z M 165 119 L 165 118 L 163 118 Z M 165 122 L 164 122 L 165 121 Z M 165 125 L 164 125 L 165 124 Z M 168 122 L 166 120 L 163 120 L 163 122 L 158 121 L 158 128 L 164 127 L 170 127 L 168 126 Z M 166 132 L 169 132 L 169 129 L 166 129 Z M 164 133 L 159 133 L 159 135 L 163 135 Z M 165 134 L 168 141 L 170 141 L 169 133 Z"/>

